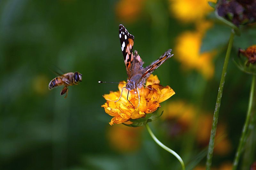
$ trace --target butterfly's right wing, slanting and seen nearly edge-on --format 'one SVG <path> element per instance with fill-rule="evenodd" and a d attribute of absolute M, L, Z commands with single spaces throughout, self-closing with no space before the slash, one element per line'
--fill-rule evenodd
<path fill-rule="evenodd" d="M 166 51 L 163 55 L 161 55 L 156 61 L 151 63 L 149 66 L 143 69 L 144 74 L 141 76 L 138 85 L 140 86 L 145 83 L 146 79 L 153 73 L 160 65 L 162 65 L 168 58 L 171 58 L 173 54 L 171 54 L 172 49 Z"/>

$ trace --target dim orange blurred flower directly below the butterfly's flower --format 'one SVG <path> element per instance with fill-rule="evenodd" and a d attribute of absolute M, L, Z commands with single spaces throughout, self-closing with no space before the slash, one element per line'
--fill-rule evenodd
<path fill-rule="evenodd" d="M 133 152 L 140 148 L 141 127 L 130 128 L 119 124 L 110 126 L 107 132 L 107 139 L 112 148 L 119 152 Z"/>

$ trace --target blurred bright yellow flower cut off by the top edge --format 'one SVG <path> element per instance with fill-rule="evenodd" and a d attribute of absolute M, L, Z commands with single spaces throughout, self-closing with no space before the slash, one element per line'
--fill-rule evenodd
<path fill-rule="evenodd" d="M 169 0 L 172 16 L 183 22 L 202 20 L 214 9 L 208 4 L 209 0 Z M 212 1 L 216 2 L 216 0 Z"/>

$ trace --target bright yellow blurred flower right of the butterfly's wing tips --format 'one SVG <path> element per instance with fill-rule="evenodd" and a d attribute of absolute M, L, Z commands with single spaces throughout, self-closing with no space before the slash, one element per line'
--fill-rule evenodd
<path fill-rule="evenodd" d="M 204 52 L 200 54 L 202 38 L 207 28 L 211 26 L 209 22 L 197 25 L 198 31 L 186 31 L 178 36 L 175 47 L 175 57 L 182 64 L 183 69 L 196 69 L 205 78 L 212 78 L 214 66 L 212 63 L 215 52 Z"/>

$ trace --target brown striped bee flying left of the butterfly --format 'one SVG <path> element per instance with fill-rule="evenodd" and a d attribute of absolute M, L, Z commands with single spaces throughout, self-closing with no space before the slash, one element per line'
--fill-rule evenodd
<path fill-rule="evenodd" d="M 49 90 L 54 87 L 64 85 L 63 89 L 60 92 L 60 95 L 66 93 L 66 98 L 68 96 L 68 86 L 69 85 L 78 85 L 78 82 L 82 81 L 82 74 L 79 72 L 70 72 L 63 74 L 59 77 L 53 78 L 49 83 Z"/>

